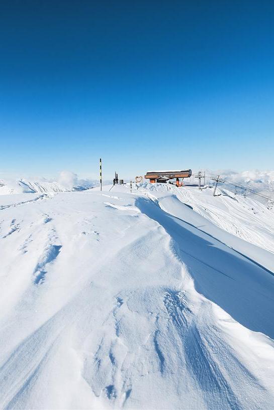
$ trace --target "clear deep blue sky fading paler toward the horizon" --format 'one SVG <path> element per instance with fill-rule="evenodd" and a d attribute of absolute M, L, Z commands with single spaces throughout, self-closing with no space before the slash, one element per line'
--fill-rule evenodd
<path fill-rule="evenodd" d="M 0 173 L 273 169 L 272 1 L 14 1 Z"/>

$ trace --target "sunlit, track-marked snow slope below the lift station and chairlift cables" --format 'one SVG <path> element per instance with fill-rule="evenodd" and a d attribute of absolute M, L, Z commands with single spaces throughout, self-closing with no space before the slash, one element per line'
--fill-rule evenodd
<path fill-rule="evenodd" d="M 171 192 L 200 215 L 204 216 L 220 228 L 274 251 L 274 210 L 266 204 L 242 195 L 235 195 L 229 190 L 217 188 L 213 197 L 213 188 L 206 187 L 199 191 L 198 187 L 185 186 L 177 189 L 173 185 L 138 184 L 139 192 L 143 189 Z"/>

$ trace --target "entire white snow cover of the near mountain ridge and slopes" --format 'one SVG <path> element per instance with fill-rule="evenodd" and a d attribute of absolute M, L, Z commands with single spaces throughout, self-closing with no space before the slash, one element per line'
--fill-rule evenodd
<path fill-rule="evenodd" d="M 273 408 L 273 211 L 133 184 L 0 198 L 1 408 Z"/>

